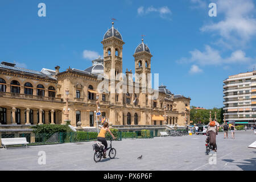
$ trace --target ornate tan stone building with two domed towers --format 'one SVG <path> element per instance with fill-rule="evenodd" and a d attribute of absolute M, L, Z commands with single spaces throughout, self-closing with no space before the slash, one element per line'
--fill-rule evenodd
<path fill-rule="evenodd" d="M 0 64 L 0 122 L 2 125 L 36 125 L 63 124 L 65 106 L 68 98 L 68 118 L 72 126 L 81 121 L 82 127 L 96 126 L 96 101 L 100 107 L 101 117 L 113 125 L 177 125 L 184 126 L 190 121 L 190 98 L 174 95 L 166 88 L 159 86 L 159 96 L 150 100 L 147 93 L 142 93 L 142 83 L 134 84 L 133 89 L 139 93 L 102 93 L 98 84 L 109 80 L 109 85 L 117 85 L 118 75 L 123 72 L 122 46 L 125 44 L 122 35 L 114 26 L 102 40 L 104 58 L 92 61 L 87 69 L 68 68 L 60 72 L 43 68 L 33 71 L 15 67 L 15 64 Z M 142 43 L 134 52 L 135 73 L 151 73 L 151 51 Z M 113 74 L 112 74 L 113 72 Z M 131 71 L 126 69 L 129 79 Z M 113 76 L 114 75 L 114 76 Z M 101 79 L 99 79 L 101 78 Z M 146 82 L 150 80 L 146 79 Z M 68 90 L 68 96 L 66 91 Z M 109 86 L 109 90 L 111 88 Z M 98 98 L 97 98 L 98 97 Z M 99 119 L 100 119 L 99 118 Z M 165 121 L 166 119 L 166 121 Z"/>

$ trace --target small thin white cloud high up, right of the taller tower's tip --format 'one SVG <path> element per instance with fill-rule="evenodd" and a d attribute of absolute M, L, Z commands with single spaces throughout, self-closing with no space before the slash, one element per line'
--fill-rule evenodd
<path fill-rule="evenodd" d="M 144 7 L 141 6 L 137 9 L 138 15 L 146 15 L 152 12 L 159 13 L 161 18 L 167 18 L 167 15 L 171 14 L 171 10 L 167 6 L 155 8 L 154 6 L 150 6 L 144 10 Z"/>

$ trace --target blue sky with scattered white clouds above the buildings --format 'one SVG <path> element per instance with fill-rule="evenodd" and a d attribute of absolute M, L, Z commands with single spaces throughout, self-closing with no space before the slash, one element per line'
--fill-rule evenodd
<path fill-rule="evenodd" d="M 38 4 L 46 4 L 46 17 Z M 210 17 L 210 2 L 217 16 Z M 0 1 L 0 60 L 20 67 L 85 69 L 103 55 L 102 38 L 111 27 L 121 32 L 123 71 L 134 72 L 135 48 L 147 43 L 152 73 L 191 105 L 222 107 L 222 81 L 256 65 L 256 1 L 112 0 Z"/>

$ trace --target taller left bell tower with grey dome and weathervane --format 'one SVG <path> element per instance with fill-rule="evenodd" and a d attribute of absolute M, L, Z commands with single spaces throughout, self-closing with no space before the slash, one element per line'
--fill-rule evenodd
<path fill-rule="evenodd" d="M 122 35 L 114 28 L 114 22 L 112 28 L 106 31 L 101 43 L 104 51 L 104 74 L 114 80 L 118 73 L 122 73 L 122 50 L 125 44 Z"/>

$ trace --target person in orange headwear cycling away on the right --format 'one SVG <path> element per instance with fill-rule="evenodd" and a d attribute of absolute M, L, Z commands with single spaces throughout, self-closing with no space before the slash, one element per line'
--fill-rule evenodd
<path fill-rule="evenodd" d="M 217 152 L 216 135 L 218 134 L 219 126 L 220 124 L 214 119 L 209 122 L 206 132 L 206 134 L 209 135 L 209 144 L 213 147 L 215 152 Z"/>

